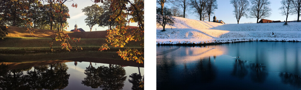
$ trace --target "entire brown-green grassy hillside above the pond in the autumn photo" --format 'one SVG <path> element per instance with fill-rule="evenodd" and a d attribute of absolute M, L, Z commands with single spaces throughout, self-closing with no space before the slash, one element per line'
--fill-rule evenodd
<path fill-rule="evenodd" d="M 52 41 L 51 38 L 54 38 L 54 30 L 45 30 L 45 29 L 35 29 L 34 34 L 30 34 L 29 31 L 26 31 L 27 28 L 23 27 L 13 27 L 8 26 L 9 34 L 5 36 L 3 40 L 0 40 L 0 52 L 47 52 L 50 51 L 49 42 Z M 133 28 L 133 27 L 132 27 Z M 133 29 L 129 29 L 131 31 Z M 64 31 L 65 34 L 69 35 L 70 38 L 81 38 L 79 42 L 76 42 L 78 46 L 83 47 L 83 50 L 80 51 L 98 51 L 98 48 L 107 43 L 106 35 L 107 31 L 93 31 L 93 32 L 69 32 Z M 140 44 L 144 41 L 130 41 L 126 44 L 126 47 L 129 48 L 141 48 Z M 76 44 L 70 42 L 72 46 Z M 61 42 L 54 41 L 53 45 L 55 50 L 61 50 Z M 115 48 L 109 46 L 111 51 L 113 50 L 116 53 Z"/>

